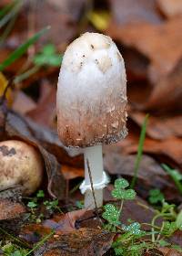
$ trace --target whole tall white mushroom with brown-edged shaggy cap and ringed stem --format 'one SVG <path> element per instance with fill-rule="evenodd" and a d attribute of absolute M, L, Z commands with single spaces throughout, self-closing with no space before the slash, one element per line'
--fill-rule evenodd
<path fill-rule="evenodd" d="M 83 148 L 85 181 L 80 189 L 85 207 L 103 205 L 108 178 L 103 169 L 102 144 L 126 137 L 126 69 L 110 37 L 86 32 L 67 48 L 59 73 L 57 131 L 63 144 Z M 90 172 L 89 172 L 90 169 Z"/>

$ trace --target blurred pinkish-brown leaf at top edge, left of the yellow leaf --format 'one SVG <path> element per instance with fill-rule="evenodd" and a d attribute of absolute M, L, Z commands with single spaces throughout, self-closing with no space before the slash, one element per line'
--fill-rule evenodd
<path fill-rule="evenodd" d="M 85 1 L 72 0 L 59 1 L 56 4 L 56 2 L 52 1 L 36 1 L 34 9 L 36 29 L 39 30 L 42 27 L 51 26 L 48 32 L 48 37 L 51 38 L 51 41 L 56 45 L 66 45 L 76 35 L 76 22 L 79 15 L 73 16 L 72 12 L 74 10 L 75 14 L 80 14 L 84 7 L 83 2 Z"/>

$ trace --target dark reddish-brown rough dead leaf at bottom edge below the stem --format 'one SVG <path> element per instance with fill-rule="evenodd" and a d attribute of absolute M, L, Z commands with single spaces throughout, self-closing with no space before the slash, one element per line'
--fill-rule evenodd
<path fill-rule="evenodd" d="M 35 251 L 35 256 L 101 256 L 109 250 L 113 238 L 114 234 L 102 229 L 57 232 L 54 238 Z"/>

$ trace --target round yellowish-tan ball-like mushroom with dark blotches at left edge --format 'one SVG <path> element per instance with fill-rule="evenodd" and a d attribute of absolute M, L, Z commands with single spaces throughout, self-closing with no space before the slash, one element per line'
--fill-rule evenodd
<path fill-rule="evenodd" d="M 30 195 L 43 178 L 41 155 L 22 141 L 0 143 L 0 190 L 20 186 L 23 195 Z"/>

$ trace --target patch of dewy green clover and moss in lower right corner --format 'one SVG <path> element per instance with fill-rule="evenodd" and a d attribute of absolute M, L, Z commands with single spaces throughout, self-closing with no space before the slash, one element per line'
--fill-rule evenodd
<path fill-rule="evenodd" d="M 135 190 L 127 187 L 129 187 L 129 184 L 126 179 L 116 179 L 111 194 L 120 200 L 120 208 L 117 208 L 114 204 L 106 204 L 102 215 L 107 221 L 105 229 L 116 232 L 116 239 L 112 244 L 116 255 L 141 256 L 147 249 L 159 246 L 167 246 L 180 251 L 177 246 L 168 243 L 167 238 L 177 229 L 182 229 L 182 211 L 177 214 L 176 206 L 168 204 L 159 189 L 151 189 L 149 201 L 153 204 L 161 204 L 161 207 L 156 209 L 151 223 L 147 224 L 151 227 L 151 230 L 144 231 L 141 226 L 146 225 L 145 223 L 140 224 L 129 219 L 127 221 L 130 223 L 125 225 L 121 221 L 124 201 L 132 200 L 136 197 Z M 162 219 L 160 226 L 157 226 L 157 219 L 160 219 L 160 221 Z M 148 239 L 149 237 L 151 237 L 151 240 Z"/>

